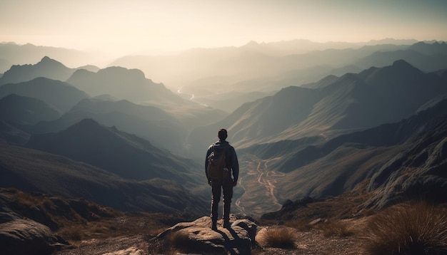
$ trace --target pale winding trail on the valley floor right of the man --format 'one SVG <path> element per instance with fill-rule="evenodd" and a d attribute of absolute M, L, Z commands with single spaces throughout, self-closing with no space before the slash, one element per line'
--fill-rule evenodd
<path fill-rule="evenodd" d="M 235 203 L 241 213 L 258 217 L 281 209 L 282 204 L 276 197 L 276 185 L 278 177 L 285 174 L 268 170 L 268 162 L 269 160 L 251 156 L 241 164 L 241 170 L 246 171 L 239 182 L 244 192 Z"/>

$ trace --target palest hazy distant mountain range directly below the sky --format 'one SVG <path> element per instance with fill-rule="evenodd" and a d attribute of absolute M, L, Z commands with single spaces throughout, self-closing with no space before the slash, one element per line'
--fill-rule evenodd
<path fill-rule="evenodd" d="M 248 93 L 271 94 L 330 75 L 390 66 L 398 59 L 427 72 L 446 68 L 443 43 L 419 42 L 412 47 L 412 42 L 417 43 L 391 39 L 338 45 L 299 40 L 251 42 L 241 47 L 195 48 L 176 56 L 125 56 L 111 65 L 139 68 L 151 78 L 163 80 L 171 90 L 181 88 L 194 95 L 194 101 L 231 113 L 248 100 L 260 98 Z M 248 95 L 241 98 L 245 101 L 238 99 L 243 93 Z M 230 107 L 222 103 L 226 98 L 234 102 Z"/>

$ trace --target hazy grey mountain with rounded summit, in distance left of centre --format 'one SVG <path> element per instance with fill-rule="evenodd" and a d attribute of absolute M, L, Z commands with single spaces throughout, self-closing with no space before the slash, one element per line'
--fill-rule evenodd
<path fill-rule="evenodd" d="M 114 98 L 135 103 L 184 103 L 179 95 L 172 93 L 162 83 L 147 79 L 144 73 L 137 69 L 113 66 L 96 73 L 81 69 L 74 72 L 67 82 L 92 96 L 109 94 Z"/>

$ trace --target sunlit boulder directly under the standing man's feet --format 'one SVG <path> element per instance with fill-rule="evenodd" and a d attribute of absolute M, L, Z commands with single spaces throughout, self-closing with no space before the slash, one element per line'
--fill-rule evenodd
<path fill-rule="evenodd" d="M 219 220 L 216 231 L 210 228 L 210 217 L 181 222 L 161 232 L 150 243 L 174 246 L 177 251 L 186 254 L 251 254 L 256 224 L 234 215 L 231 215 L 231 222 L 231 227 L 226 229 Z"/>

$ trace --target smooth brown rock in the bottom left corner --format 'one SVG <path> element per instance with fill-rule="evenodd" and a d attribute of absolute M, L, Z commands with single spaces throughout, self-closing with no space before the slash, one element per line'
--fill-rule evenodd
<path fill-rule="evenodd" d="M 14 218 L 0 224 L 1 254 L 51 254 L 68 246 L 49 227 L 31 219 Z"/>

